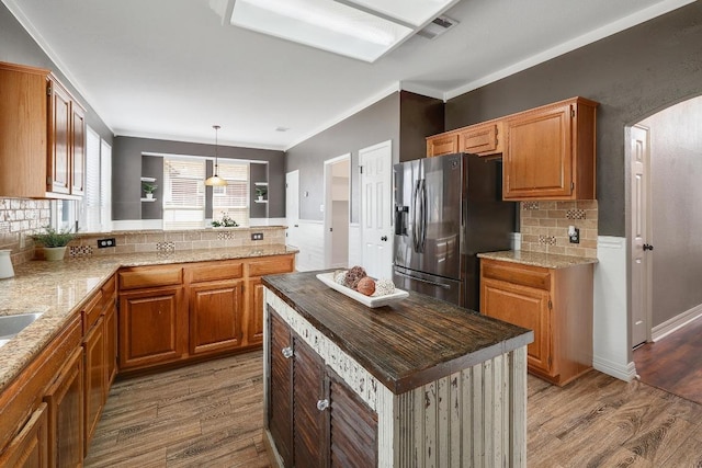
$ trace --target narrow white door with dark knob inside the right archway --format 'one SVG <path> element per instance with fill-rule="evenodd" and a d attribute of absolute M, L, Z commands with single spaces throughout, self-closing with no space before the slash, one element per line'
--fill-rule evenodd
<path fill-rule="evenodd" d="M 650 317 L 652 250 L 648 229 L 648 128 L 631 130 L 632 164 L 632 346 L 648 340 Z"/>

